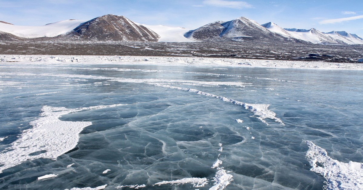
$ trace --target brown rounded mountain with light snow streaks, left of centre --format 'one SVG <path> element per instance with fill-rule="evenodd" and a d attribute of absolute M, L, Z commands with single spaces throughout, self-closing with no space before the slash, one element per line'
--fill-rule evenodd
<path fill-rule="evenodd" d="M 124 16 L 104 15 L 82 23 L 66 36 L 87 40 L 158 41 L 154 31 L 136 24 Z"/>

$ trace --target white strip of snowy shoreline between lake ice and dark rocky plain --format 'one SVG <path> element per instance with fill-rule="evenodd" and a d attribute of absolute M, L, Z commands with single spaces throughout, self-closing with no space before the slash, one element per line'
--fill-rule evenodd
<path fill-rule="evenodd" d="M 69 56 L 69 55 L 0 55 L 1 64 L 25 65 L 170 65 L 170 66 L 220 66 L 220 67 L 262 67 L 322 70 L 363 70 L 363 63 L 337 63 L 322 61 L 283 61 L 238 58 L 203 57 L 147 57 L 147 56 Z"/>

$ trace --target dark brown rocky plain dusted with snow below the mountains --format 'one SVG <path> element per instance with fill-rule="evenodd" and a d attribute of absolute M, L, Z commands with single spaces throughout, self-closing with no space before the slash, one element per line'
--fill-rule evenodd
<path fill-rule="evenodd" d="M 230 57 L 357 62 L 363 45 L 219 40 L 195 43 L 69 41 L 46 38 L 0 41 L 1 54 Z"/>

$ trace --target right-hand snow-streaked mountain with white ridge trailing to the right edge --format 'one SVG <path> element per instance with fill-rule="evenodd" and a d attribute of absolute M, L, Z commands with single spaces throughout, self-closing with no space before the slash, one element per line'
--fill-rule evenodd
<path fill-rule="evenodd" d="M 332 32 L 330 32 L 332 33 Z M 282 28 L 272 22 L 258 24 L 246 17 L 240 17 L 228 22 L 215 21 L 185 33 L 185 37 L 196 41 L 230 39 L 244 40 L 279 40 L 295 41 L 297 43 L 313 44 L 363 44 L 362 38 L 345 31 L 335 32 L 334 35 L 323 33 L 315 28 L 296 29 Z"/>

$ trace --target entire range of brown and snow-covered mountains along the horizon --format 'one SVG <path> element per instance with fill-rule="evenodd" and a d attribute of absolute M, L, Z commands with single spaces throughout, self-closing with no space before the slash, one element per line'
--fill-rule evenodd
<path fill-rule="evenodd" d="M 17 26 L 0 21 L 0 40 L 61 39 L 132 42 L 192 41 L 290 41 L 309 44 L 363 44 L 363 39 L 345 31 L 282 28 L 272 22 L 258 24 L 246 17 L 215 21 L 194 30 L 135 23 L 124 16 L 104 15 L 92 20 L 65 20 L 41 27 Z"/>

